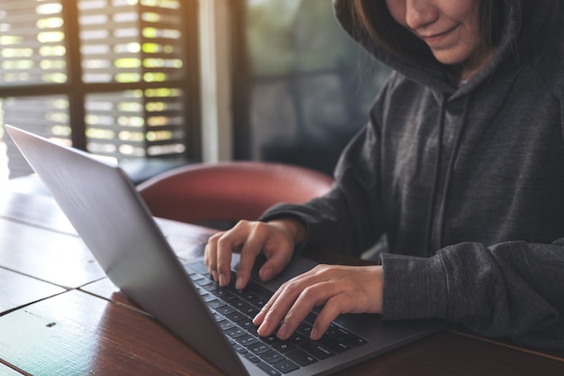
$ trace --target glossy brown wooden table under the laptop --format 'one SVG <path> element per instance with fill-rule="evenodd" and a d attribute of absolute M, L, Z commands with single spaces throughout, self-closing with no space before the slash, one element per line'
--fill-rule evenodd
<path fill-rule="evenodd" d="M 52 199 L 0 196 L 0 375 L 222 375 L 115 289 Z M 159 220 L 178 257 L 213 234 Z M 339 375 L 564 375 L 544 353 L 445 330 Z"/>

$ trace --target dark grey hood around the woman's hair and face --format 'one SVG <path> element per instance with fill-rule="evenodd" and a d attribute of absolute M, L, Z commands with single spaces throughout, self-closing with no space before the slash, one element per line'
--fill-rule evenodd
<path fill-rule="evenodd" d="M 516 53 L 523 53 L 523 48 L 520 51 L 516 50 L 515 46 L 517 43 L 520 46 L 527 46 L 527 41 L 532 40 L 534 34 L 541 28 L 539 23 L 546 23 L 545 17 L 535 16 L 535 13 L 538 13 L 538 6 L 535 6 L 537 1 L 505 0 L 505 29 L 501 32 L 500 43 L 496 48 L 496 52 L 487 64 L 470 78 L 468 84 L 460 88 L 452 86 L 446 75 L 439 69 L 416 65 L 413 61 L 402 59 L 379 46 L 368 36 L 368 32 L 355 21 L 351 0 L 332 0 L 332 5 L 341 27 L 365 50 L 368 50 L 368 53 L 373 57 L 424 87 L 430 87 L 441 93 L 451 95 L 457 90 L 468 92 L 472 88 L 477 87 L 479 83 L 486 80 L 499 66 L 504 64 L 505 60 L 515 60 Z M 524 23 L 522 14 L 530 15 Z"/>

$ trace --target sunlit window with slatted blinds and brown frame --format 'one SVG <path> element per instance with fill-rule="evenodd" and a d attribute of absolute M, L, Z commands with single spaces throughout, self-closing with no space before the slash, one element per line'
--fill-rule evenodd
<path fill-rule="evenodd" d="M 114 161 L 197 159 L 195 4 L 0 0 L 4 123 Z"/>

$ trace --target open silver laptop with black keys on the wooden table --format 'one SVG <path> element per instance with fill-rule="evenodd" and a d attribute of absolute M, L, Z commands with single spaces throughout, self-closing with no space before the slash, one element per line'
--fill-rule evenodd
<path fill-rule="evenodd" d="M 342 315 L 321 340 L 311 341 L 312 312 L 287 341 L 259 337 L 252 316 L 313 261 L 296 256 L 275 280 L 262 283 L 255 273 L 243 291 L 220 288 L 202 260 L 183 264 L 177 258 L 118 166 L 10 125 L 5 129 L 114 285 L 230 376 L 330 374 L 443 327 L 438 320 Z"/>

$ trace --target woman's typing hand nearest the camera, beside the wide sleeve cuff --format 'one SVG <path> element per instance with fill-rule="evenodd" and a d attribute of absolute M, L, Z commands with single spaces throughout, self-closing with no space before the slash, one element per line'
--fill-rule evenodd
<path fill-rule="evenodd" d="M 341 314 L 381 313 L 382 280 L 381 266 L 318 265 L 280 286 L 253 323 L 268 336 L 282 322 L 277 337 L 285 340 L 314 307 L 323 306 L 310 335 L 317 340 Z"/>

